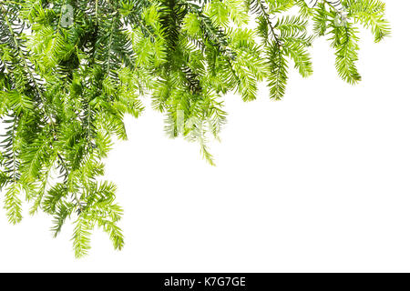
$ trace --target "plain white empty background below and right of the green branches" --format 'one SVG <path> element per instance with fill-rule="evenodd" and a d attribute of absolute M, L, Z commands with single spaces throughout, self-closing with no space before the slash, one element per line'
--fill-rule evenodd
<path fill-rule="evenodd" d="M 70 225 L 47 216 L 9 226 L 0 211 L 0 271 L 410 271 L 408 1 L 386 0 L 393 37 L 361 34 L 363 82 L 343 83 L 333 52 L 313 45 L 314 75 L 292 70 L 282 102 L 226 96 L 229 122 L 210 145 L 169 140 L 150 108 L 128 118 L 107 177 L 125 209 L 122 252 L 96 231 L 74 259 Z"/>

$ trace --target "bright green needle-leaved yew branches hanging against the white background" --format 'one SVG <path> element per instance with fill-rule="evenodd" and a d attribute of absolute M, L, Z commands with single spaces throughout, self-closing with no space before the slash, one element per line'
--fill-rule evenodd
<path fill-rule="evenodd" d="M 266 80 L 281 100 L 291 66 L 313 74 L 309 50 L 320 36 L 339 75 L 357 83 L 357 25 L 381 41 L 390 35 L 384 9 L 378 0 L 2 0 L 0 191 L 8 220 L 21 221 L 26 199 L 30 214 L 53 217 L 54 236 L 74 221 L 77 257 L 96 227 L 121 249 L 122 210 L 116 187 L 101 179 L 102 159 L 114 139 L 127 139 L 124 115 L 142 113 L 142 95 L 166 116 L 170 137 L 199 143 L 213 165 L 207 141 L 226 123 L 223 95 L 252 101 Z"/>

